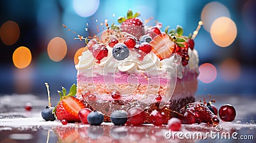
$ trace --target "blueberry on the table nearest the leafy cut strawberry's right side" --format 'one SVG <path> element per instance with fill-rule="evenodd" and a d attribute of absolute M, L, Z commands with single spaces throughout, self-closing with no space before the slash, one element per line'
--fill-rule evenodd
<path fill-rule="evenodd" d="M 103 122 L 103 115 L 100 112 L 93 111 L 87 116 L 87 121 L 91 125 L 100 125 Z"/>

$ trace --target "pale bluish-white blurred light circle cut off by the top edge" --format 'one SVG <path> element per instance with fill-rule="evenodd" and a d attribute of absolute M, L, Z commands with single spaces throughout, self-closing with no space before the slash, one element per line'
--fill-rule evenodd
<path fill-rule="evenodd" d="M 99 8 L 99 0 L 73 0 L 73 8 L 81 17 L 92 16 Z"/>

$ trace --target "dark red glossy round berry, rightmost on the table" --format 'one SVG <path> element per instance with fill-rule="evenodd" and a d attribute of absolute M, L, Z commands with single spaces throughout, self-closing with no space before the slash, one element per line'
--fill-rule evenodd
<path fill-rule="evenodd" d="M 236 117 L 236 109 L 230 104 L 223 105 L 219 109 L 219 116 L 222 121 L 234 121 Z"/>

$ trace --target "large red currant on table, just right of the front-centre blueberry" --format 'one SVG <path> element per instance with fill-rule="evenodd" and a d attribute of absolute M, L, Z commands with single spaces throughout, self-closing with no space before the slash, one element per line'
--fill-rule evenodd
<path fill-rule="evenodd" d="M 134 107 L 128 111 L 128 124 L 140 125 L 146 120 L 146 112 L 140 107 Z"/>

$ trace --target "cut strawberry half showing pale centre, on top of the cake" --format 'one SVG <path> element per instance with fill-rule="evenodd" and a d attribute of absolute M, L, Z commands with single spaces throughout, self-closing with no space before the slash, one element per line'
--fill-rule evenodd
<path fill-rule="evenodd" d="M 159 57 L 160 60 L 166 59 L 172 56 L 175 44 L 170 40 L 167 34 L 159 34 L 152 41 L 150 41 L 152 46 L 152 52 Z"/>

